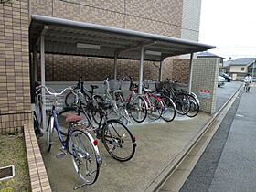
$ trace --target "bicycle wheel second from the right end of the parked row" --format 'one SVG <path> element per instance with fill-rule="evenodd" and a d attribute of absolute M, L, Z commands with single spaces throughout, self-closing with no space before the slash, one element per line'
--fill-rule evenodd
<path fill-rule="evenodd" d="M 176 112 L 182 115 L 187 114 L 190 109 L 190 101 L 185 93 L 178 93 L 174 100 L 176 104 Z"/>

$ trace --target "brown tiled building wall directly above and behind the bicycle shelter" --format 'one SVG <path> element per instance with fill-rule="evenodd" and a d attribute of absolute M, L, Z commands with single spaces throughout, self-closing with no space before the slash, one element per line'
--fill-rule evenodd
<path fill-rule="evenodd" d="M 31 10 L 32 14 L 180 37 L 182 3 L 180 0 L 33 0 Z M 159 66 L 159 63 L 155 65 Z M 155 65 L 145 62 L 144 79 L 158 78 Z M 113 59 L 48 55 L 46 68 L 46 80 L 77 80 L 80 74 L 86 80 L 103 80 L 113 75 Z M 165 59 L 163 68 L 163 77 L 170 78 L 173 72 L 172 59 Z M 138 77 L 138 70 L 138 61 L 119 60 L 119 76 Z"/>

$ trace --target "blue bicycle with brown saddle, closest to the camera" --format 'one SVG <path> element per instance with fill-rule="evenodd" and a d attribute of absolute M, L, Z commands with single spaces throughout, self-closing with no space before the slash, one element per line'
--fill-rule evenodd
<path fill-rule="evenodd" d="M 60 133 L 59 115 L 56 112 L 57 97 L 70 88 L 66 88 L 59 93 L 49 91 L 46 86 L 39 86 L 38 90 L 40 89 L 45 89 L 49 95 L 53 96 L 46 130 L 48 152 L 50 152 L 53 144 L 54 131 L 56 131 L 62 145 L 61 153 L 57 155 L 57 157 L 60 158 L 67 154 L 71 155 L 75 171 L 83 181 L 83 184 L 78 187 L 74 186 L 73 189 L 75 190 L 85 185 L 92 185 L 99 177 L 102 163 L 102 158 L 97 146 L 98 141 L 93 139 L 91 133 L 87 130 L 87 126 L 80 122 L 81 117 L 72 113 L 67 114 L 65 117 L 65 124 L 68 124 L 66 139 L 64 139 Z"/>

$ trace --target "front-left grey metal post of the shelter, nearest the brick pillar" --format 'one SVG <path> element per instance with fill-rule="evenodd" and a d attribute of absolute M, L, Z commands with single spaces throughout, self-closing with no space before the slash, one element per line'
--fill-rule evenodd
<path fill-rule="evenodd" d="M 40 37 L 40 58 L 41 58 L 41 85 L 46 85 L 45 79 L 45 37 L 41 35 Z M 46 91 L 42 89 L 42 120 L 43 120 L 43 128 L 47 128 L 47 115 L 46 115 Z"/>

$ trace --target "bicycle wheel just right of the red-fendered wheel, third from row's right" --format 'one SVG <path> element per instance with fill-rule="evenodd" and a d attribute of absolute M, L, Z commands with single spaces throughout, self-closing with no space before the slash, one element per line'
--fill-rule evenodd
<path fill-rule="evenodd" d="M 169 97 L 161 97 L 162 101 L 164 102 L 164 111 L 162 113 L 162 119 L 165 122 L 172 122 L 176 117 L 176 106 L 174 101 L 172 101 Z"/>

